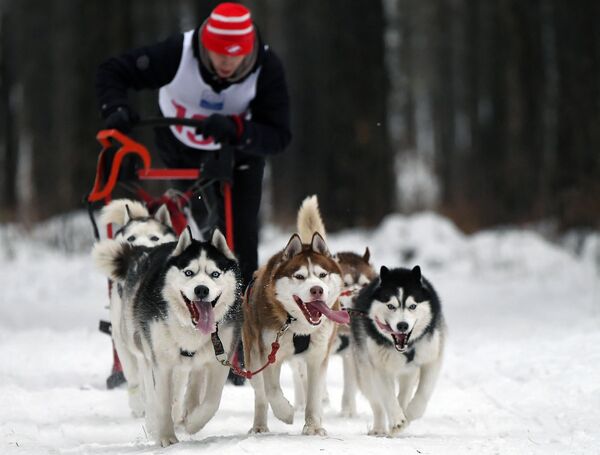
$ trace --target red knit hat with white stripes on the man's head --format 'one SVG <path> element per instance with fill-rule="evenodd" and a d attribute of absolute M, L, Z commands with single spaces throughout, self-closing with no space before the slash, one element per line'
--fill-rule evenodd
<path fill-rule="evenodd" d="M 246 55 L 254 46 L 254 26 L 250 11 L 239 3 L 221 3 L 206 21 L 202 45 L 225 55 Z"/>

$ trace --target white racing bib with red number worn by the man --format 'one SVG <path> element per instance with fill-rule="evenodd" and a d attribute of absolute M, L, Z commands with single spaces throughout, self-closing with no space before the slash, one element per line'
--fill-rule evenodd
<path fill-rule="evenodd" d="M 171 82 L 160 88 L 158 104 L 165 117 L 203 119 L 211 114 L 240 115 L 250 118 L 248 106 L 256 96 L 256 81 L 260 67 L 239 84 L 232 84 L 217 93 L 202 79 L 198 60 L 192 50 L 194 31 L 184 33 L 183 51 L 177 74 Z M 212 138 L 196 134 L 191 126 L 171 126 L 175 137 L 195 149 L 221 148 Z"/>

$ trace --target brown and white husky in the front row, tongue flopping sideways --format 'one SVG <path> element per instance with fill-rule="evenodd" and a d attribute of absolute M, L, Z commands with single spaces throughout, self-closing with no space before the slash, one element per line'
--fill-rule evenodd
<path fill-rule="evenodd" d="M 269 362 L 272 342 L 280 348 L 274 363 L 253 375 L 254 422 L 251 433 L 268 432 L 267 411 L 287 424 L 294 408 L 283 395 L 281 366 L 294 354 L 306 362 L 306 435 L 325 435 L 321 394 L 337 323 L 348 323 L 338 296 L 341 270 L 325 243 L 325 228 L 315 196 L 304 200 L 298 212 L 298 232 L 285 248 L 272 256 L 254 275 L 244 303 L 242 329 L 246 366 L 256 371 Z M 271 356 L 272 359 L 272 356 Z"/>

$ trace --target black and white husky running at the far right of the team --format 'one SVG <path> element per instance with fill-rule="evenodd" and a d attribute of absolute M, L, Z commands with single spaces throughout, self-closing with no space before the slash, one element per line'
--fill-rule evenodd
<path fill-rule="evenodd" d="M 358 384 L 373 411 L 369 434 L 396 436 L 423 415 L 439 375 L 446 338 L 440 301 L 419 266 L 382 266 L 354 309 Z"/>

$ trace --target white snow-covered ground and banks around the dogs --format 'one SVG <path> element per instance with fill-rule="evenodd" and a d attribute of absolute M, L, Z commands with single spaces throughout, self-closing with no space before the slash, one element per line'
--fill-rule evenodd
<path fill-rule="evenodd" d="M 181 443 L 161 449 L 130 416 L 126 392 L 105 389 L 111 347 L 97 323 L 107 317 L 106 282 L 85 252 L 88 239 L 78 240 L 89 226 L 77 220 L 33 239 L 0 227 L 2 454 L 600 453 L 597 263 L 529 231 L 465 236 L 434 214 L 329 237 L 333 251 L 369 246 L 377 266 L 420 264 L 436 286 L 450 336 L 421 420 L 390 439 L 366 435 L 372 417 L 362 398 L 357 418 L 339 417 L 341 362 L 333 358 L 328 436 L 302 436 L 302 413 L 291 426 L 271 415 L 270 434 L 248 435 L 252 389 L 227 385 L 206 428 L 179 432 Z M 287 239 L 265 229 L 261 259 Z M 48 243 L 55 246 L 41 246 Z"/>

